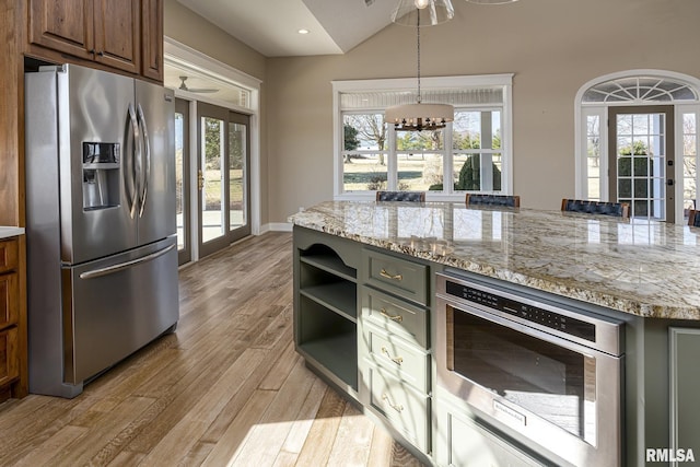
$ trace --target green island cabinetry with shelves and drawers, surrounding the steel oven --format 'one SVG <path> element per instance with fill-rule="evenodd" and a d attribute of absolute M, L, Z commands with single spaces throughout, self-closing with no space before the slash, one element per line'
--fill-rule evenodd
<path fill-rule="evenodd" d="M 293 238 L 294 342 L 312 371 L 425 465 L 551 465 L 435 387 L 441 265 L 300 225 Z M 626 323 L 625 466 L 700 462 L 700 322 L 603 313 Z"/>

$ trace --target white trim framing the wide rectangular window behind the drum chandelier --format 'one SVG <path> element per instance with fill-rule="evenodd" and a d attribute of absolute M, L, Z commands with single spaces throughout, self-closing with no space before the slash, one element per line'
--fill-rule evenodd
<path fill-rule="evenodd" d="M 416 89 L 416 79 L 413 78 L 396 78 L 396 79 L 381 79 L 381 80 L 343 80 L 331 81 L 332 85 L 332 108 L 334 108 L 334 126 L 332 126 L 332 140 L 334 140 L 334 199 L 335 200 L 373 200 L 373 191 L 360 191 L 360 192 L 343 192 L 342 180 L 342 164 L 340 163 L 342 144 L 343 144 L 343 129 L 342 129 L 342 116 L 340 108 L 340 94 L 341 93 L 360 93 L 368 91 L 413 91 Z M 502 166 L 505 175 L 501 179 L 502 192 L 504 195 L 513 194 L 513 73 L 503 74 L 478 74 L 478 75 L 462 75 L 462 77 L 429 77 L 421 78 L 421 89 L 448 89 L 448 87 L 479 87 L 479 86 L 503 86 L 503 114 L 502 114 L 502 132 L 501 132 L 501 150 L 502 150 Z M 468 107 L 468 106 L 464 106 Z M 475 107 L 477 107 L 475 105 Z M 462 108 L 462 107 L 460 107 Z M 363 110 L 362 108 L 353 108 L 353 110 Z M 368 108 L 366 110 L 376 112 L 376 107 Z M 382 110 L 381 110 L 382 112 Z M 448 124 L 445 131 L 452 135 L 452 124 Z M 395 132 L 389 133 L 389 138 L 395 138 Z M 452 140 L 452 137 L 450 137 Z M 445 138 L 445 144 L 447 138 Z M 452 148 L 452 143 L 450 144 Z M 452 154 L 452 151 L 450 151 Z M 452 157 L 447 157 L 451 160 Z M 444 164 L 445 166 L 447 163 Z M 395 168 L 395 167 L 394 167 Z M 392 167 L 387 167 L 392 170 Z M 395 172 L 395 171 L 394 171 Z M 451 179 L 451 172 L 445 173 L 448 175 L 445 179 Z M 389 174 L 389 176 L 392 176 Z M 464 199 L 464 194 L 445 194 L 445 192 L 427 192 L 427 200 L 431 201 L 455 201 Z"/>

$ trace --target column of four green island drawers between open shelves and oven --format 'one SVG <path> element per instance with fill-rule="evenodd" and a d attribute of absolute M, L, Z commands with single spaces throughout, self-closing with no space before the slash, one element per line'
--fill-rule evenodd
<path fill-rule="evenodd" d="M 430 266 L 362 248 L 361 401 L 431 453 Z"/>

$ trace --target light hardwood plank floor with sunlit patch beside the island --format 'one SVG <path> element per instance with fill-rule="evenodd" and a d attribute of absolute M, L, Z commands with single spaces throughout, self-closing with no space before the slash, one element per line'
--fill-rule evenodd
<path fill-rule="evenodd" d="M 0 466 L 410 466 L 303 364 L 292 242 L 268 233 L 179 273 L 177 331 L 68 400 L 0 405 Z"/>

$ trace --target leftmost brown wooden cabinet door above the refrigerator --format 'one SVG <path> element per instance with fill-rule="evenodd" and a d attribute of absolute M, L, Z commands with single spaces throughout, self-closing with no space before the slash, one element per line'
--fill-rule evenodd
<path fill-rule="evenodd" d="M 93 34 L 93 0 L 30 0 L 32 44 L 92 60 Z"/>

